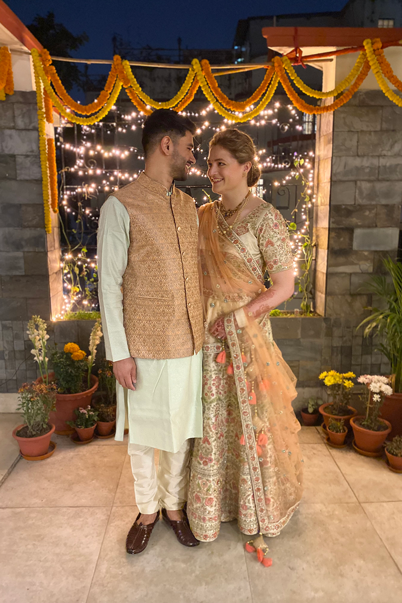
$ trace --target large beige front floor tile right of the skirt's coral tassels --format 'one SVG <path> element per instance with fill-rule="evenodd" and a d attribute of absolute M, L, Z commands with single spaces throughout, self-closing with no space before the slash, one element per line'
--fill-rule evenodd
<path fill-rule="evenodd" d="M 272 567 L 246 558 L 253 603 L 401 601 L 402 575 L 357 503 L 301 505 L 267 540 Z"/>

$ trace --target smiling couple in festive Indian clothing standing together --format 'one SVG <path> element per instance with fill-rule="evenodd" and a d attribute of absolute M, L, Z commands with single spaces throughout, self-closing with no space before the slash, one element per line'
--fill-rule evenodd
<path fill-rule="evenodd" d="M 251 194 L 256 149 L 236 129 L 210 141 L 208 176 L 221 200 L 197 215 L 174 185 L 195 163 L 194 134 L 185 116 L 154 111 L 143 127 L 145 171 L 108 197 L 99 219 L 116 440 L 128 412 L 139 508 L 131 554 L 145 549 L 160 508 L 180 543 L 196 546 L 233 519 L 243 534 L 276 536 L 302 492 L 295 377 L 269 322 L 294 291 L 286 223 Z"/>

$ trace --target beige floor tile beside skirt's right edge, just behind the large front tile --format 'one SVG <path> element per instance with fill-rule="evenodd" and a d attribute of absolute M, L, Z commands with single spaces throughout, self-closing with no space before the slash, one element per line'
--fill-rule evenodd
<path fill-rule="evenodd" d="M 325 444 L 301 444 L 303 452 L 303 502 L 356 502 L 356 497 Z"/>

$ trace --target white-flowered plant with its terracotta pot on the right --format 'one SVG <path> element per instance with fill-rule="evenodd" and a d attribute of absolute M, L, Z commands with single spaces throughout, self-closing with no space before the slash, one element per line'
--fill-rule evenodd
<path fill-rule="evenodd" d="M 357 380 L 367 385 L 368 394 L 365 417 L 353 417 L 350 421 L 354 441 L 357 449 L 363 452 L 380 452 L 391 431 L 391 423 L 380 418 L 380 406 L 384 396 L 391 396 L 392 388 L 388 385 L 388 377 L 380 375 L 361 375 Z"/>

